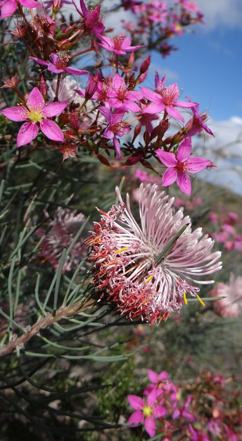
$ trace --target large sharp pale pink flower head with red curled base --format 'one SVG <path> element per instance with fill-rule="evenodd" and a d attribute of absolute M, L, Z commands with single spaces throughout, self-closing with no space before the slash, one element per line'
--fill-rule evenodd
<path fill-rule="evenodd" d="M 88 239 L 100 299 L 115 304 L 118 314 L 151 324 L 180 310 L 187 303 L 186 294 L 201 300 L 193 283 L 213 280 L 197 276 L 221 269 L 221 253 L 211 253 L 213 241 L 202 237 L 202 228 L 191 232 L 190 218 L 176 213 L 174 198 L 157 185 L 139 187 L 140 224 L 132 215 L 129 195 L 125 204 L 118 188 L 116 194 L 119 205 L 108 213 L 99 210 L 102 220 L 94 223 Z"/>

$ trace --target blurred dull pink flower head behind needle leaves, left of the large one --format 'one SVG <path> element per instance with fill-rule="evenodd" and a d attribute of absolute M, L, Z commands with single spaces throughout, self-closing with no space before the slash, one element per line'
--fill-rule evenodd
<path fill-rule="evenodd" d="M 36 231 L 36 235 L 38 238 L 41 238 L 46 234 L 47 229 L 50 228 L 50 230 L 40 245 L 41 250 L 38 256 L 43 259 L 43 262 L 49 262 L 54 269 L 57 269 L 63 248 L 68 248 L 71 244 L 84 223 L 85 216 L 82 213 L 77 214 L 76 210 L 63 210 L 62 207 L 58 207 L 56 210 L 54 220 L 51 220 L 46 212 L 45 216 L 47 218 L 46 229 L 39 228 Z M 87 246 L 83 238 L 79 238 L 66 257 L 63 270 L 70 271 L 71 269 L 76 269 L 86 251 Z"/>

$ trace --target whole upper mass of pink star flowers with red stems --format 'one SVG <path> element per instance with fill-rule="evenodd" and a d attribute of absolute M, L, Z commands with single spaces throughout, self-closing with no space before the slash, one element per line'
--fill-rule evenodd
<path fill-rule="evenodd" d="M 192 136 L 203 130 L 212 135 L 205 124 L 208 115 L 199 112 L 197 102 L 189 98 L 179 100 L 178 85 L 165 86 L 165 78 L 160 78 L 158 72 L 153 90 L 140 87 L 151 64 L 150 56 L 141 61 L 140 56 L 147 48 L 167 55 L 170 37 L 202 20 L 196 2 L 179 0 L 168 8 L 160 0 L 122 0 L 119 8 L 130 10 L 137 19 L 135 25 L 124 24 L 134 45 L 125 33 L 109 34 L 112 30 L 105 28 L 100 5 L 88 8 L 84 0 L 80 0 L 80 6 L 72 2 L 77 19 L 67 23 L 62 8 L 70 3 L 49 0 L 45 7 L 34 0 L 0 3 L 2 18 L 16 18 L 10 22 L 14 25 L 10 31 L 12 38 L 26 45 L 30 67 L 34 68 L 31 79 L 36 87 L 25 96 L 18 88 L 21 79 L 17 74 L 5 79 L 2 86 L 11 88 L 20 99 L 16 107 L 2 110 L 12 121 L 25 121 L 17 135 L 17 147 L 29 143 L 33 148 L 50 147 L 47 137 L 52 140 L 51 147 L 60 150 L 63 160 L 84 150 L 96 155 L 103 164 L 117 167 L 107 158 L 112 150 L 120 160 L 118 167 L 140 162 L 154 170 L 154 161 L 149 161 L 153 158 L 159 176 L 160 170 L 167 167 L 162 185 L 177 181 L 189 195 L 187 173 L 213 166 L 209 160 L 191 155 Z M 142 44 L 135 44 L 135 35 Z M 95 55 L 93 68 L 88 71 L 71 66 L 79 57 L 80 64 L 87 53 Z M 83 75 L 86 86 L 81 89 L 69 75 Z M 178 108 L 188 113 L 187 122 Z M 169 131 L 171 123 L 175 126 L 173 132 Z M 39 132 L 45 137 L 38 136 Z M 125 136 L 126 143 L 120 145 L 120 138 Z"/>

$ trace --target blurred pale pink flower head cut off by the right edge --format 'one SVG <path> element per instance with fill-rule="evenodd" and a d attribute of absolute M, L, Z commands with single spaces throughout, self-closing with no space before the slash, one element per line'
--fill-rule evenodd
<path fill-rule="evenodd" d="M 213 309 L 222 317 L 236 318 L 242 312 L 242 277 L 230 274 L 229 283 L 217 283 L 211 291 L 212 297 L 224 296 L 213 302 Z"/>

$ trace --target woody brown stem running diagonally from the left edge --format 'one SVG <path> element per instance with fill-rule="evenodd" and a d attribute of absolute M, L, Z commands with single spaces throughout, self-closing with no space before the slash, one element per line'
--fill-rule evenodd
<path fill-rule="evenodd" d="M 45 317 L 41 317 L 35 322 L 33 326 L 31 326 L 30 330 L 25 334 L 22 334 L 18 339 L 10 340 L 10 342 L 0 348 L 1 355 L 11 354 L 16 350 L 17 347 L 21 347 L 25 345 L 32 337 L 35 335 L 39 335 L 42 329 L 46 329 L 49 326 L 59 322 L 62 319 L 68 319 L 79 314 L 84 309 L 92 306 L 95 302 L 95 299 L 91 298 L 83 303 L 83 300 L 79 300 L 76 303 L 73 303 L 69 306 L 61 306 L 56 310 L 55 316 L 51 313 L 47 313 Z"/>

